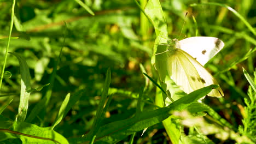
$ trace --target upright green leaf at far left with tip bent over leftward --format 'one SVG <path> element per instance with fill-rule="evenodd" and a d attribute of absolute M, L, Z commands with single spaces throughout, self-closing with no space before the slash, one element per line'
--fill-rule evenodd
<path fill-rule="evenodd" d="M 21 88 L 20 88 L 20 104 L 19 112 L 16 115 L 15 121 L 23 122 L 27 116 L 28 99 L 30 97 L 30 92 L 27 89 L 31 89 L 30 84 L 30 69 L 27 66 L 26 59 L 20 56 L 18 53 L 10 52 L 14 55 L 20 63 L 20 75 L 21 75 Z"/>

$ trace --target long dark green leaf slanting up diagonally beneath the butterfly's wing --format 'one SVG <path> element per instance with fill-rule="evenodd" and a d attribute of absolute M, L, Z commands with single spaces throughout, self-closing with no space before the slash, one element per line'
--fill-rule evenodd
<path fill-rule="evenodd" d="M 103 125 L 96 134 L 95 143 L 115 143 L 123 140 L 125 137 L 137 131 L 164 121 L 164 119 L 172 115 L 173 111 L 181 111 L 185 109 L 185 107 L 189 106 L 194 101 L 211 92 L 212 88 L 217 87 L 218 86 L 216 85 L 204 87 L 174 101 L 167 107 L 162 107 L 153 111 L 141 112 L 135 117 Z M 69 140 L 71 143 L 86 141 L 90 141 L 90 138 L 87 135 L 83 138 Z"/>

